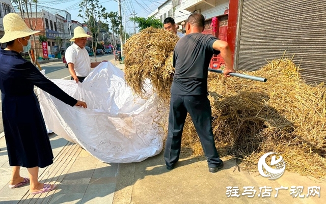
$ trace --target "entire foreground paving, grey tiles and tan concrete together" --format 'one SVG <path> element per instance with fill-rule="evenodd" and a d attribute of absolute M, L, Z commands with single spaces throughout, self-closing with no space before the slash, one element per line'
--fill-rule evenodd
<path fill-rule="evenodd" d="M 173 170 L 167 170 L 162 153 L 138 163 L 102 163 L 78 145 L 50 134 L 54 163 L 40 169 L 41 182 L 57 184 L 56 190 L 31 196 L 29 185 L 9 189 L 11 167 L 8 165 L 5 138 L 0 138 L 0 203 L 325 203 L 326 182 L 285 171 L 278 180 L 268 180 L 258 172 L 238 171 L 235 160 L 226 160 L 222 170 L 208 172 L 204 157 L 186 157 Z M 27 176 L 25 168 L 21 175 Z M 227 194 L 227 187 L 238 191 Z M 254 197 L 241 195 L 243 187 L 253 186 Z M 292 186 L 303 191 L 292 197 Z M 308 187 L 319 186 L 318 195 L 307 197 Z M 263 187 L 271 187 L 264 191 Z M 279 190 L 275 197 L 276 188 Z M 261 190 L 260 190 L 261 189 Z M 267 188 L 268 190 L 268 188 Z M 261 191 L 261 192 L 260 192 Z M 238 193 L 237 193 L 238 192 Z M 258 196 L 259 195 L 259 196 Z M 262 196 L 265 197 L 262 197 Z M 294 194 L 295 195 L 295 194 Z M 297 195 L 304 195 L 303 198 Z"/>

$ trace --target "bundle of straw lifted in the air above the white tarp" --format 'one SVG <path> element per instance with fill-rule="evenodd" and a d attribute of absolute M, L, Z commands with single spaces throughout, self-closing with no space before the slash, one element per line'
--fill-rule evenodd
<path fill-rule="evenodd" d="M 124 45 L 125 78 L 135 94 L 144 96 L 146 79 L 150 79 L 159 97 L 168 99 L 166 92 L 173 76 L 171 53 L 178 40 L 177 35 L 152 27 L 128 39 Z"/>

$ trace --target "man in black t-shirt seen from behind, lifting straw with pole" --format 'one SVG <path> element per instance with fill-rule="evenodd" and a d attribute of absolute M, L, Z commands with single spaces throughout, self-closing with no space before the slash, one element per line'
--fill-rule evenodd
<path fill-rule="evenodd" d="M 164 158 L 167 169 L 173 169 L 179 160 L 181 136 L 187 112 L 189 112 L 200 138 L 209 172 L 223 168 L 215 148 L 211 126 L 211 108 L 207 98 L 208 66 L 213 54 L 222 55 L 225 61 L 224 76 L 229 77 L 233 69 L 228 43 L 212 35 L 204 35 L 205 18 L 191 14 L 186 23 L 186 36 L 174 49 L 173 67 L 175 73 L 171 86 L 169 130 Z"/>

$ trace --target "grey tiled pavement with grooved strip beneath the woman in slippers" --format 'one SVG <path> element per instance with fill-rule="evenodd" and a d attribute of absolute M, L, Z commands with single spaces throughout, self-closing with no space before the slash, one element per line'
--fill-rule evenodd
<path fill-rule="evenodd" d="M 40 169 L 39 179 L 57 184 L 56 190 L 30 195 L 29 185 L 8 187 L 11 167 L 8 164 L 5 137 L 0 138 L 0 203 L 112 203 L 117 182 L 118 164 L 102 163 L 77 144 L 50 134 L 55 159 L 52 165 Z M 21 176 L 28 176 L 21 168 Z"/>

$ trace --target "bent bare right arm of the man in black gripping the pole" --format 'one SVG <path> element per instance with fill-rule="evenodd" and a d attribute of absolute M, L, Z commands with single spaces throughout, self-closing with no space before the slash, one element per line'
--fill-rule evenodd
<path fill-rule="evenodd" d="M 223 40 L 216 40 L 213 43 L 213 49 L 221 52 L 222 58 L 225 62 L 225 69 L 223 70 L 224 76 L 229 77 L 229 73 L 235 73 L 233 69 L 232 53 L 227 42 Z"/>

